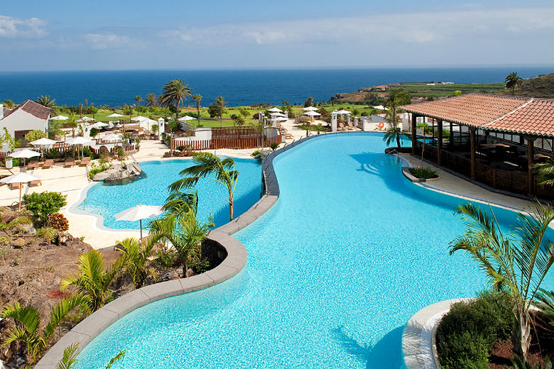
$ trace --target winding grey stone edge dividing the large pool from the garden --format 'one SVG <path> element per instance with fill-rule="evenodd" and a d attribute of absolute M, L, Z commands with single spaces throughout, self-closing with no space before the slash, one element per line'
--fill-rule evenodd
<path fill-rule="evenodd" d="M 229 278 L 237 275 L 246 265 L 247 254 L 244 245 L 231 235 L 242 228 L 248 226 L 277 202 L 279 196 L 279 184 L 273 170 L 273 158 L 276 155 L 284 153 L 286 150 L 295 147 L 299 143 L 305 141 L 295 141 L 284 148 L 277 150 L 268 155 L 262 163 L 262 189 L 265 194 L 259 199 L 256 204 L 251 206 L 244 214 L 237 217 L 219 228 L 210 231 L 207 239 L 219 243 L 227 250 L 227 257 L 216 268 L 208 270 L 200 275 L 195 275 L 179 280 L 168 280 L 166 282 L 155 283 L 146 287 L 133 290 L 123 296 L 114 299 L 109 304 L 104 305 L 96 312 L 90 314 L 79 324 L 73 327 L 58 342 L 56 342 L 45 355 L 36 363 L 34 368 L 37 369 L 56 369 L 58 363 L 63 358 L 63 351 L 72 343 L 79 343 L 77 352 L 87 346 L 90 341 L 96 338 L 99 334 L 114 324 L 115 321 L 130 312 L 143 307 L 151 302 L 156 302 L 166 297 L 173 297 L 179 294 L 202 290 L 218 283 L 224 282 Z M 88 184 L 81 190 L 80 197 L 88 191 L 94 184 Z M 75 202 L 72 206 L 79 204 Z M 72 207 L 71 206 L 71 207 Z M 79 214 L 85 215 L 85 214 Z M 87 214 L 91 215 L 91 214 Z M 113 231 L 110 229 L 110 231 Z"/>

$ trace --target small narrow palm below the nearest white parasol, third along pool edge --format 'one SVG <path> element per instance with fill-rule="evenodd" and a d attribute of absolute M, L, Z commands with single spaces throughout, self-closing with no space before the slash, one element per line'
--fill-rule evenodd
<path fill-rule="evenodd" d="M 146 237 L 139 241 L 136 238 L 125 238 L 123 241 L 118 241 L 121 245 L 119 251 L 123 269 L 131 275 L 133 284 L 136 289 L 144 285 L 144 281 L 151 269 L 148 268 L 148 258 L 152 255 L 152 250 L 156 245 L 156 240 L 152 237 Z"/>

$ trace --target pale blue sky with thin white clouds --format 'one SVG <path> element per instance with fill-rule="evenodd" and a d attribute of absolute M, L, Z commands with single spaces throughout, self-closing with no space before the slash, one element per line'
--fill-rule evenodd
<path fill-rule="evenodd" d="M 538 66 L 552 0 L 24 0 L 0 72 Z"/>

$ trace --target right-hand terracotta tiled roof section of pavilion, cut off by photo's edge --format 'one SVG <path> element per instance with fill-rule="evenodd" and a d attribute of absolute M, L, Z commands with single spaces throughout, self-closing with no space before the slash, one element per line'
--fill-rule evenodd
<path fill-rule="evenodd" d="M 531 99 L 510 114 L 484 125 L 484 128 L 554 136 L 554 100 Z"/>

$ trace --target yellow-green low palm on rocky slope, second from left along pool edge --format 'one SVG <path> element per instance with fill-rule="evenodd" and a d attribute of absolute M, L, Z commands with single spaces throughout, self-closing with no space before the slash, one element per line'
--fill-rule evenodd
<path fill-rule="evenodd" d="M 112 284 L 117 273 L 123 267 L 124 258 L 119 258 L 109 267 L 104 267 L 104 257 L 98 250 L 92 250 L 80 255 L 77 262 L 79 275 L 71 275 L 61 280 L 62 292 L 67 287 L 75 286 L 80 294 L 89 297 L 89 307 L 94 312 L 102 307 L 110 293 L 109 285 Z"/>

